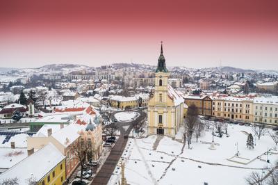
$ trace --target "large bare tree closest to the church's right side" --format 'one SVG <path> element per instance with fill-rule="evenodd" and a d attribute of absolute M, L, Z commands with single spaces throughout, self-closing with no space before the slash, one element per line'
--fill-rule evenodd
<path fill-rule="evenodd" d="M 183 136 L 186 136 L 188 140 L 188 148 L 190 148 L 192 135 L 194 133 L 197 122 L 199 122 L 198 108 L 197 106 L 195 106 L 195 104 L 191 104 L 190 106 L 188 106 L 186 123 L 184 124 L 185 132 L 183 134 Z"/>

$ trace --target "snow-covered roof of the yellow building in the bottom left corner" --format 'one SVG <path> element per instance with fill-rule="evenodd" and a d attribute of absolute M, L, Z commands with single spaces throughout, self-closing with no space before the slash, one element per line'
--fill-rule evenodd
<path fill-rule="evenodd" d="M 49 143 L 9 170 L 6 170 L 6 172 L 3 172 L 0 175 L 0 182 L 3 179 L 13 179 L 15 177 L 17 177 L 19 184 L 28 184 L 26 179 L 30 177 L 38 181 L 63 159 L 65 159 L 65 156 L 52 143 Z"/>

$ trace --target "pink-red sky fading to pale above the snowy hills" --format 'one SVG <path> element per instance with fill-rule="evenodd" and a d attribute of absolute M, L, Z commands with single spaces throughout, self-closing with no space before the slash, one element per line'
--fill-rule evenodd
<path fill-rule="evenodd" d="M 1 1 L 1 67 L 51 63 L 278 70 L 278 1 Z"/>

